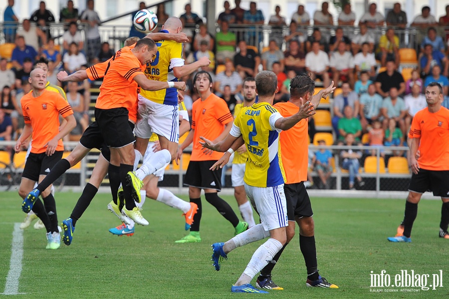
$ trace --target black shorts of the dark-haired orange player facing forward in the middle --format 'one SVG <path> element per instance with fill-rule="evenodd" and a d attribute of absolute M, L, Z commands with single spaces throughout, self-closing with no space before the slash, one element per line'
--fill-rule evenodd
<path fill-rule="evenodd" d="M 190 161 L 184 185 L 200 189 L 222 190 L 222 169 L 210 170 L 217 160 Z"/>

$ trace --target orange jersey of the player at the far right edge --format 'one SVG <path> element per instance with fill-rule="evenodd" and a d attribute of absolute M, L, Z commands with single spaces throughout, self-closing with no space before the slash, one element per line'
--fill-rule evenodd
<path fill-rule="evenodd" d="M 420 138 L 420 167 L 449 170 L 449 110 L 441 107 L 436 113 L 428 108 L 418 111 L 410 131 L 413 138 Z"/>

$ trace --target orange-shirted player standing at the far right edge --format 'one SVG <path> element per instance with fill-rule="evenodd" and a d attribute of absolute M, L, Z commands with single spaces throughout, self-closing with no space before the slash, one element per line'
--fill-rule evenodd
<path fill-rule="evenodd" d="M 409 185 L 404 212 L 404 232 L 402 236 L 390 237 L 390 242 L 412 242 L 413 223 L 418 214 L 418 203 L 427 190 L 443 201 L 440 237 L 448 235 L 449 211 L 449 110 L 442 107 L 443 88 L 437 82 L 426 87 L 427 108 L 415 114 L 409 136 L 413 137 L 410 147 L 412 180 Z M 419 158 L 416 158 L 417 151 Z M 445 213 L 446 211 L 446 213 Z"/>

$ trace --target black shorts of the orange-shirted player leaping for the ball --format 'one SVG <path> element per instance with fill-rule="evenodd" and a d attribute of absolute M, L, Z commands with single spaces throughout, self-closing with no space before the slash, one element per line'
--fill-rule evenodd
<path fill-rule="evenodd" d="M 127 126 L 128 110 L 126 108 L 95 108 L 95 122 L 108 147 L 123 148 L 136 141 L 133 130 Z"/>

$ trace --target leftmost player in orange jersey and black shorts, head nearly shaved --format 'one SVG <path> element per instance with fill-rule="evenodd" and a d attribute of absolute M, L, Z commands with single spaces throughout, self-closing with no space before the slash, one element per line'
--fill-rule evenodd
<path fill-rule="evenodd" d="M 36 68 L 31 71 L 28 81 L 32 92 L 21 99 L 25 127 L 15 144 L 19 152 L 31 135 L 32 145 L 20 181 L 19 195 L 23 198 L 22 210 L 30 210 L 42 220 L 47 231 L 47 249 L 57 249 L 60 244 L 56 203 L 50 192 L 50 186 L 43 189 L 43 204 L 38 196 L 33 200 L 27 198 L 34 183 L 42 181 L 50 169 L 62 158 L 64 146 L 61 138 L 76 126 L 70 105 L 58 93 L 45 90 L 46 71 Z M 59 114 L 67 121 L 59 130 Z"/>

